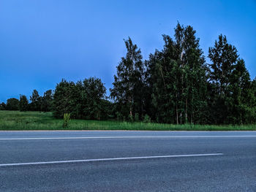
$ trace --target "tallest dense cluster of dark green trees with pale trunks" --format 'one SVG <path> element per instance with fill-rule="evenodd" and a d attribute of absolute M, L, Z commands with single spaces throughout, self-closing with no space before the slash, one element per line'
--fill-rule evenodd
<path fill-rule="evenodd" d="M 161 123 L 205 123 L 206 64 L 195 30 L 178 23 L 175 39 L 163 38 L 164 49 L 147 61 L 146 81 L 154 107 L 148 114 Z"/>

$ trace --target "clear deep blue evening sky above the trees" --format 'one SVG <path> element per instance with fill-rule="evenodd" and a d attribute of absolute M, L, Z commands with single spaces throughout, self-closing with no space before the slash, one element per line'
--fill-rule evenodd
<path fill-rule="evenodd" d="M 205 55 L 225 34 L 255 78 L 255 0 L 0 0 L 0 101 L 33 89 L 42 95 L 62 78 L 96 76 L 111 88 L 123 39 L 146 59 L 177 21 L 195 28 Z"/>

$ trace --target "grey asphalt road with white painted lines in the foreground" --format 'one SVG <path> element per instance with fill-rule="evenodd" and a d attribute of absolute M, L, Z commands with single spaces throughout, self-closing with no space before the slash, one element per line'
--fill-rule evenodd
<path fill-rule="evenodd" d="M 0 131 L 0 191 L 256 191 L 256 132 Z"/>

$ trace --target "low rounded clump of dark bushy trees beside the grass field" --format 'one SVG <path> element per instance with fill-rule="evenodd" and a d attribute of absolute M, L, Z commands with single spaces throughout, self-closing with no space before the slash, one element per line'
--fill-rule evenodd
<path fill-rule="evenodd" d="M 64 113 L 69 113 L 71 118 L 106 119 L 110 103 L 105 94 L 105 86 L 96 77 L 77 83 L 62 80 L 53 95 L 53 115 L 63 118 Z"/>

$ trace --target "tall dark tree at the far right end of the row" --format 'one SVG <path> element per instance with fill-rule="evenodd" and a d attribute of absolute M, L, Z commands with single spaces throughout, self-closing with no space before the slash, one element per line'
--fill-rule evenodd
<path fill-rule="evenodd" d="M 255 123 L 253 85 L 236 47 L 221 34 L 214 47 L 209 48 L 208 57 L 212 62 L 208 100 L 211 123 Z"/>

